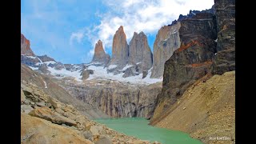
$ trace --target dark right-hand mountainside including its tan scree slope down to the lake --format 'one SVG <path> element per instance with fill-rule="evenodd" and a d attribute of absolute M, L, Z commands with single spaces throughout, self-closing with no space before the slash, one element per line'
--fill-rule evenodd
<path fill-rule="evenodd" d="M 150 124 L 234 143 L 234 1 L 214 2 L 212 10 L 180 16 L 181 46 L 165 63 Z"/>

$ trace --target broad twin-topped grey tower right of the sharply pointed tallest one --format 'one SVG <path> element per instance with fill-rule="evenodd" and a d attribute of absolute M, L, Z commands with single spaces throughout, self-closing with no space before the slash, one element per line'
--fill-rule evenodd
<path fill-rule="evenodd" d="M 133 38 L 129 44 L 129 65 L 136 65 L 138 62 L 142 63 L 142 71 L 150 70 L 153 58 L 150 46 L 148 45 L 146 35 L 143 32 L 137 34 L 134 32 Z"/>

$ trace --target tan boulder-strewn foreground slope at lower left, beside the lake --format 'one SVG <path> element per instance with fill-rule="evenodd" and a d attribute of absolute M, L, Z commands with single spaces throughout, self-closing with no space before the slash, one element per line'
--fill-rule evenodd
<path fill-rule="evenodd" d="M 21 143 L 150 143 L 120 134 L 22 82 Z M 155 143 L 155 142 L 154 142 Z"/>

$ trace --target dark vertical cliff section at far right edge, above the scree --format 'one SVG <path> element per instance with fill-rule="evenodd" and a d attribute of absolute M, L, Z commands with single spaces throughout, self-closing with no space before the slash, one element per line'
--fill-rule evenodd
<path fill-rule="evenodd" d="M 215 0 L 218 26 L 217 54 L 214 57 L 213 74 L 235 70 L 235 2 Z"/>

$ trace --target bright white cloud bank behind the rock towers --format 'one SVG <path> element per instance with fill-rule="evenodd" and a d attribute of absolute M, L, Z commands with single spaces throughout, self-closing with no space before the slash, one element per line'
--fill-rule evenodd
<path fill-rule="evenodd" d="M 214 5 L 214 0 L 104 0 L 110 13 L 100 16 L 101 23 L 94 26 L 90 33 L 92 46 L 101 39 L 104 47 L 112 47 L 112 38 L 119 26 L 124 26 L 127 41 L 130 42 L 134 31 L 156 34 L 158 30 L 177 19 L 179 14 L 190 10 L 206 10 Z M 94 34 L 91 36 L 91 34 Z M 91 54 L 94 51 L 90 51 Z"/>

